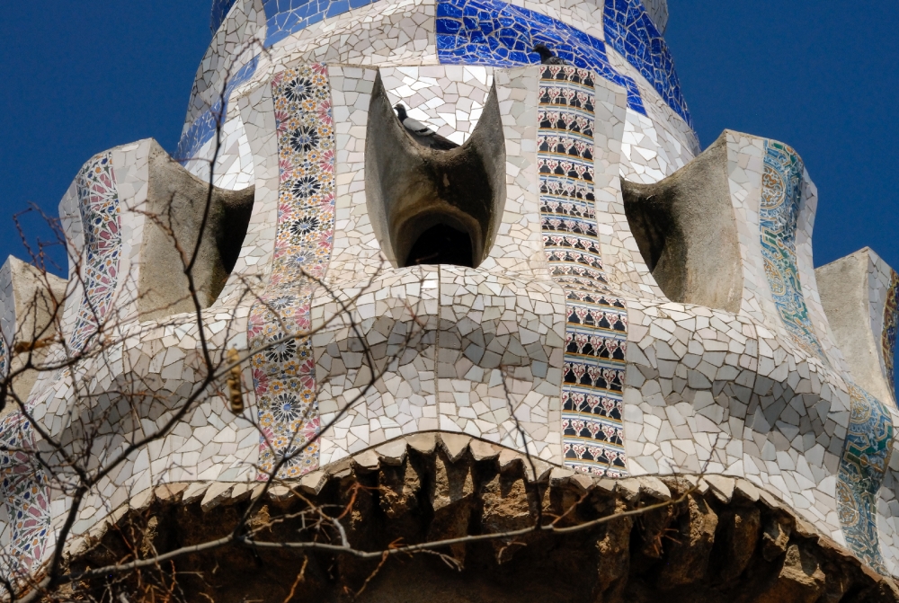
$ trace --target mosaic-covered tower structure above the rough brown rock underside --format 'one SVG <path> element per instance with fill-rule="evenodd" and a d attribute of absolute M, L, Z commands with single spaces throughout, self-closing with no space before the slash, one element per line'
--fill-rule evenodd
<path fill-rule="evenodd" d="M 121 343 L 40 377 L 29 407 L 96 466 L 191 395 L 197 313 L 165 278 L 180 259 L 162 226 L 201 235 L 215 157 L 199 315 L 213 354 L 251 356 L 247 409 L 202 398 L 91 493 L 76 534 L 159 483 L 243 496 L 286 457 L 281 477 L 320 483 L 439 430 L 596 477 L 739 475 L 897 572 L 895 272 L 868 255 L 816 275 L 817 194 L 792 148 L 725 131 L 696 156 L 664 5 L 216 4 L 174 160 L 116 147 L 60 205 L 69 351 L 48 353 Z M 539 65 L 537 42 L 572 65 Z M 416 146 L 396 102 L 458 149 Z M 407 262 L 432 226 L 467 236 L 472 265 Z M 128 379 L 153 393 L 134 412 L 110 395 Z M 25 519 L 0 537 L 28 571 L 69 500 L 27 455 L 2 461 L 7 518 Z"/>

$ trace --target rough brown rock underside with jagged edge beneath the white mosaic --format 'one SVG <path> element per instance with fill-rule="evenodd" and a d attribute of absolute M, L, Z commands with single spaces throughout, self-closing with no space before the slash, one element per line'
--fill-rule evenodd
<path fill-rule="evenodd" d="M 528 528 L 538 517 L 574 527 L 666 501 L 582 531 L 451 545 L 442 560 L 396 555 L 370 581 L 377 562 L 237 545 L 177 558 L 171 569 L 202 576 L 182 581 L 188 600 L 283 600 L 306 566 L 295 600 L 343 600 L 366 584 L 358 600 L 899 602 L 892 579 L 743 479 L 594 479 L 449 433 L 387 442 L 267 490 L 165 484 L 134 497 L 69 553 L 78 570 L 206 542 L 227 536 L 251 503 L 251 526 L 275 520 L 260 539 L 310 538 L 298 536 L 298 511 L 316 504 L 334 516 L 346 510 L 349 542 L 377 551 Z M 316 538 L 334 537 L 326 532 Z"/>

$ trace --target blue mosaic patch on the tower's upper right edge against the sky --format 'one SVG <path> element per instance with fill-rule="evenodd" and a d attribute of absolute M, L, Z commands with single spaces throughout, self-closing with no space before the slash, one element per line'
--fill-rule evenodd
<path fill-rule="evenodd" d="M 662 33 L 640 0 L 606 0 L 603 12 L 606 43 L 616 49 L 653 85 L 664 102 L 693 127 L 681 81 Z"/>

